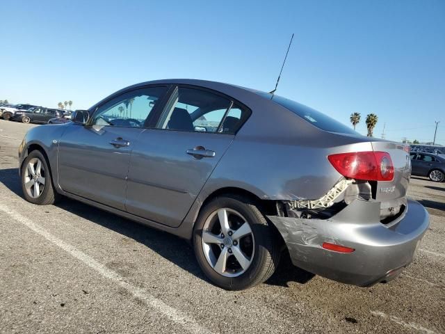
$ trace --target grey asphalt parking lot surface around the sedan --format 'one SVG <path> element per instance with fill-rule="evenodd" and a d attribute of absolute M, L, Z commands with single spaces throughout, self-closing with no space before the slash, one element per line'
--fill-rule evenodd
<path fill-rule="evenodd" d="M 33 126 L 0 120 L 1 333 L 445 333 L 444 183 L 412 177 L 431 224 L 391 283 L 343 285 L 284 257 L 267 283 L 226 292 L 182 239 L 66 198 L 26 202 L 17 148 Z"/>

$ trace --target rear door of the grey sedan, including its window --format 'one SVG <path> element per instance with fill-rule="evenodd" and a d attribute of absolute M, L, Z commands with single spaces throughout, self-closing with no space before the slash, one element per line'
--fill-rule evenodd
<path fill-rule="evenodd" d="M 249 112 L 213 91 L 175 88 L 133 149 L 127 211 L 180 225 Z"/>

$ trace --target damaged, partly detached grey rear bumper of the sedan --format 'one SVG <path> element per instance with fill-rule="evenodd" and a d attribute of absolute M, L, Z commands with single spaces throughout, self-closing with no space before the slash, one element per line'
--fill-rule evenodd
<path fill-rule="evenodd" d="M 429 226 L 426 209 L 407 201 L 405 214 L 380 223 L 380 203 L 355 200 L 330 219 L 268 216 L 289 249 L 294 265 L 341 283 L 369 286 L 389 281 L 412 262 Z M 323 242 L 354 248 L 338 253 Z"/>

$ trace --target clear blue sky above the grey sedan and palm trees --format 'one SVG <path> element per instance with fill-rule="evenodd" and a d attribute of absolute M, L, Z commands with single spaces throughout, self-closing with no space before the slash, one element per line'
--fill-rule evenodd
<path fill-rule="evenodd" d="M 387 138 L 445 145 L 445 1 L 0 0 L 0 100 L 85 109 L 140 81 L 272 90 Z"/>

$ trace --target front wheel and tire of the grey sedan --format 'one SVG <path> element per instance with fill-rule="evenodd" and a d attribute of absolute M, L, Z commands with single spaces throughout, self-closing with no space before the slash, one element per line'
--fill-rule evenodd
<path fill-rule="evenodd" d="M 31 164 L 33 170 L 29 167 Z M 59 196 L 54 189 L 49 164 L 42 152 L 33 150 L 28 154 L 23 162 L 20 175 L 23 195 L 28 202 L 36 205 L 49 205 L 58 200 Z M 35 184 L 38 185 L 37 188 Z"/>

